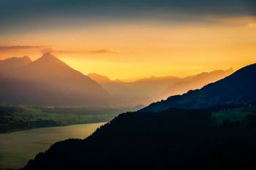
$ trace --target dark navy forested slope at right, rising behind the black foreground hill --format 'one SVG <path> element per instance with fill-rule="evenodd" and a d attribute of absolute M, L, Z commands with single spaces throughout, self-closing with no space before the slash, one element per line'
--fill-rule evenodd
<path fill-rule="evenodd" d="M 170 96 L 165 101 L 150 104 L 140 112 L 159 112 L 171 107 L 203 108 L 217 104 L 256 101 L 256 63 L 239 69 L 222 80 L 189 90 L 183 95 Z"/>

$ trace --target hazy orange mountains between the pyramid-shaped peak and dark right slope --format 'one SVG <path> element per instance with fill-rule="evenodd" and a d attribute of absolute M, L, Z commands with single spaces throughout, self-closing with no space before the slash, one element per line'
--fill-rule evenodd
<path fill-rule="evenodd" d="M 122 82 L 110 80 L 100 74 L 88 74 L 91 79 L 98 82 L 114 98 L 124 104 L 150 104 L 168 96 L 187 93 L 189 90 L 202 88 L 211 82 L 216 82 L 233 73 L 233 69 L 226 71 L 203 72 L 188 77 L 175 76 L 148 77 L 135 82 Z"/>

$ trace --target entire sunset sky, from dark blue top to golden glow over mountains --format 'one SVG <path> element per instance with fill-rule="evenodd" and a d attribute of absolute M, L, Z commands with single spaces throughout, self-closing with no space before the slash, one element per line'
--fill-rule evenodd
<path fill-rule="evenodd" d="M 0 59 L 50 52 L 111 79 L 256 63 L 255 0 L 1 0 Z"/>

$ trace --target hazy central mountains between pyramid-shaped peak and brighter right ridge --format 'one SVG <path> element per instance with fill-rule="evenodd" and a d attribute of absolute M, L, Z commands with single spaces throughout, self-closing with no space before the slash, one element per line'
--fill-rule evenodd
<path fill-rule="evenodd" d="M 119 101 L 119 104 L 135 106 L 137 104 L 150 104 L 163 89 L 173 82 L 180 80 L 178 77 L 148 77 L 135 82 L 122 82 L 110 80 L 108 77 L 99 74 L 88 74 L 91 79 L 98 82 L 108 93 Z"/>

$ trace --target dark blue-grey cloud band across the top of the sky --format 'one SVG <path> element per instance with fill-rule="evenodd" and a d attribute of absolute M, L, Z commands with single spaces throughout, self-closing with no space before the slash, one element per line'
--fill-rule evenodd
<path fill-rule="evenodd" d="M 190 22 L 204 16 L 256 16 L 255 0 L 6 0 L 0 1 L 0 7 L 1 32 L 10 33 L 102 20 Z"/>

